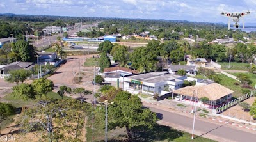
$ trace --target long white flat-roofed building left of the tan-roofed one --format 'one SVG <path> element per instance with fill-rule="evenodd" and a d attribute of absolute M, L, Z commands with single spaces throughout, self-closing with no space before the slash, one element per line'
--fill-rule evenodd
<path fill-rule="evenodd" d="M 129 75 L 124 77 L 124 90 L 133 93 L 161 94 L 168 88 L 169 91 L 182 87 L 186 76 L 169 74 L 168 72 L 148 72 L 145 74 Z"/>

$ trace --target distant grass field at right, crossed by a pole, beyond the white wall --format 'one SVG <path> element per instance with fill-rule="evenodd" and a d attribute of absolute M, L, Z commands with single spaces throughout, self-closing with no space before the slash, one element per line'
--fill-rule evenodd
<path fill-rule="evenodd" d="M 221 65 L 222 70 L 248 70 L 246 65 L 250 65 L 250 63 L 237 63 L 230 62 L 230 69 L 228 68 L 229 62 L 218 62 Z"/>

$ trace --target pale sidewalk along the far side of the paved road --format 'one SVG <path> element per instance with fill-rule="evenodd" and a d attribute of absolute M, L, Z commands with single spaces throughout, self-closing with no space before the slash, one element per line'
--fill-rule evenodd
<path fill-rule="evenodd" d="M 162 107 L 166 111 L 172 111 L 172 113 L 186 114 L 186 116 L 193 117 L 193 114 L 191 114 L 191 110 L 192 110 L 191 105 L 186 105 L 186 104 L 183 104 L 182 102 L 175 101 L 175 100 L 168 100 L 168 99 L 157 102 L 156 100 L 152 99 L 152 97 L 148 97 L 148 98 L 140 97 L 140 98 L 143 104 L 150 104 L 150 106 L 152 107 L 154 106 Z M 181 104 L 183 104 L 183 106 Z M 230 125 L 234 125 L 236 127 L 243 127 L 244 129 L 256 131 L 256 126 L 254 125 L 235 122 L 233 120 L 228 120 L 225 118 L 214 116 L 212 115 L 212 111 L 209 111 L 209 109 L 201 109 L 200 107 L 196 107 L 196 118 L 199 118 L 200 120 L 211 121 L 211 122 L 220 123 L 220 124 L 227 123 Z"/>

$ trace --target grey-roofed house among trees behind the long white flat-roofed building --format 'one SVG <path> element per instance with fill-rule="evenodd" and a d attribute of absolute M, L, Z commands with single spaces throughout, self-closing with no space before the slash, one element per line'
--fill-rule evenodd
<path fill-rule="evenodd" d="M 193 65 L 170 65 L 168 72 L 170 74 L 177 74 L 178 70 L 185 70 L 187 75 L 196 75 L 196 67 Z"/>

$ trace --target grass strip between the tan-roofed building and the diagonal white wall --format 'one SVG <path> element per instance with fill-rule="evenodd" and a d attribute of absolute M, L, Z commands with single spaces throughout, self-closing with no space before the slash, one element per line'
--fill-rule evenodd
<path fill-rule="evenodd" d="M 221 81 L 219 84 L 229 88 L 230 90 L 235 91 L 232 94 L 233 97 L 240 97 L 243 95 L 241 86 L 234 85 L 234 83 L 238 83 L 238 81 L 230 77 L 227 77 L 227 75 L 223 75 L 223 74 L 217 74 L 217 75 L 221 78 Z"/>

